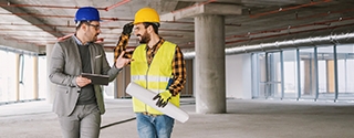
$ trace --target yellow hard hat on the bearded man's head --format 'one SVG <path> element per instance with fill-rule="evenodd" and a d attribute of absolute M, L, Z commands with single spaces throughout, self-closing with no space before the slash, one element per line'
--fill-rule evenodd
<path fill-rule="evenodd" d="M 156 22 L 159 23 L 159 15 L 153 8 L 142 8 L 135 13 L 133 24 L 142 22 Z"/>

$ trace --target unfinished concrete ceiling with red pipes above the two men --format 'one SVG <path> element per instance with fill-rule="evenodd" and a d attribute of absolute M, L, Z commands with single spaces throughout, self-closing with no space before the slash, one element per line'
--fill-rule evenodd
<path fill-rule="evenodd" d="M 0 46 L 41 54 L 45 45 L 74 33 L 77 8 L 92 6 L 100 10 L 103 22 L 98 38 L 110 51 L 123 25 L 133 21 L 143 7 L 155 8 L 166 17 L 216 3 L 242 9 L 241 14 L 225 15 L 227 47 L 348 33 L 354 29 L 352 0 L 0 0 Z M 192 51 L 194 30 L 194 19 L 183 18 L 162 21 L 159 34 L 184 51 Z M 132 36 L 128 45 L 137 44 Z"/>

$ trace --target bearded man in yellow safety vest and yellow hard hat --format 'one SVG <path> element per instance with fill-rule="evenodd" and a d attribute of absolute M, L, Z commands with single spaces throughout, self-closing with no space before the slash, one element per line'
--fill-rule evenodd
<path fill-rule="evenodd" d="M 179 107 L 179 92 L 186 82 L 186 62 L 180 49 L 158 35 L 159 15 L 152 8 L 143 8 L 135 14 L 133 23 L 123 28 L 115 47 L 115 59 L 126 50 L 133 26 L 140 45 L 125 52 L 132 59 L 132 82 L 155 92 L 156 105 L 164 108 L 167 103 Z M 169 138 L 175 119 L 133 97 L 137 130 L 140 138 Z"/>

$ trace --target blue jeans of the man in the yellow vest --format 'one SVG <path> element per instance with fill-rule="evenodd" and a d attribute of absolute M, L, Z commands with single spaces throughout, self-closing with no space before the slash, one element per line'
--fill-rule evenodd
<path fill-rule="evenodd" d="M 150 116 L 136 114 L 139 138 L 170 138 L 175 119 L 167 115 Z"/>

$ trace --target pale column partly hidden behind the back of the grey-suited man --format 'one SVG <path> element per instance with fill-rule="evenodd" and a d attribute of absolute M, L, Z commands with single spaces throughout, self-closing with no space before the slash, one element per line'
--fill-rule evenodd
<path fill-rule="evenodd" d="M 55 88 L 56 88 L 56 85 L 54 85 L 48 77 L 50 73 L 51 55 L 52 55 L 53 47 L 54 47 L 54 44 L 48 44 L 45 46 L 45 53 L 46 53 L 46 98 L 45 100 L 50 104 L 53 104 L 54 102 Z"/>

